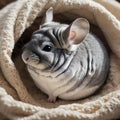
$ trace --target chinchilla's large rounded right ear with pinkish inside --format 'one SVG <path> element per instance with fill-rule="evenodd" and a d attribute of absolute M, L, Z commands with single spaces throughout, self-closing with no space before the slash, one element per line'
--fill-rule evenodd
<path fill-rule="evenodd" d="M 87 19 L 78 18 L 63 32 L 63 38 L 69 47 L 81 43 L 89 33 L 90 25 Z"/>

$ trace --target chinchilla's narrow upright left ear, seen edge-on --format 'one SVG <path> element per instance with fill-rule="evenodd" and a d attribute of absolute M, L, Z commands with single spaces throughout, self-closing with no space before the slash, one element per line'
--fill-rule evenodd
<path fill-rule="evenodd" d="M 48 22 L 52 22 L 53 20 L 53 8 L 50 7 L 46 13 L 45 13 L 45 16 L 43 17 L 43 20 L 41 22 L 41 25 L 45 24 L 45 23 L 48 23 Z"/>

